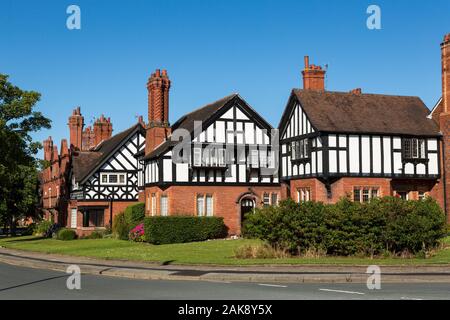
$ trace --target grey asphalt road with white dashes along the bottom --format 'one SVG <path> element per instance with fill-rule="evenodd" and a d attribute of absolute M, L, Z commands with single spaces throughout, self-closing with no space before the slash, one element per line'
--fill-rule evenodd
<path fill-rule="evenodd" d="M 66 287 L 68 274 L 0 264 L 0 300 L 5 299 L 450 299 L 450 284 L 242 283 L 134 280 L 82 275 L 81 289 Z"/>

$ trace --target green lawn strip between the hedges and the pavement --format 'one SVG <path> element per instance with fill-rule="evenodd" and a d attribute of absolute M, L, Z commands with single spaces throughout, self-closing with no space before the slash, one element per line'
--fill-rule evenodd
<path fill-rule="evenodd" d="M 255 244 L 258 240 L 213 240 L 206 242 L 150 245 L 115 239 L 60 241 L 37 237 L 0 238 L 0 246 L 11 249 L 57 253 L 73 256 L 103 259 L 151 261 L 166 264 L 353 264 L 353 265 L 393 265 L 393 264 L 449 264 L 450 237 L 444 239 L 446 248 L 428 259 L 400 258 L 288 258 L 288 259 L 236 259 L 234 250 L 244 244 Z"/>

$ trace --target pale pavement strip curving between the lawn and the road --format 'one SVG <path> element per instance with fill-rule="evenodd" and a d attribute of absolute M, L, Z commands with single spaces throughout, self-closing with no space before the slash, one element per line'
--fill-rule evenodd
<path fill-rule="evenodd" d="M 66 272 L 71 265 L 84 275 L 140 280 L 218 281 L 247 283 L 366 284 L 367 266 L 205 266 L 101 260 L 0 248 L 0 263 Z M 450 265 L 380 266 L 383 283 L 450 284 Z"/>

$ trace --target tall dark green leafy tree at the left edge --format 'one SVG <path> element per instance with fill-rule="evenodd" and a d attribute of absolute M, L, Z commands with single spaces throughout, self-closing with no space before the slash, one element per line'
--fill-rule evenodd
<path fill-rule="evenodd" d="M 0 74 L 0 222 L 15 225 L 22 217 L 33 216 L 39 203 L 38 170 L 35 158 L 42 148 L 31 133 L 50 128 L 51 121 L 34 110 L 40 94 L 24 91 Z"/>

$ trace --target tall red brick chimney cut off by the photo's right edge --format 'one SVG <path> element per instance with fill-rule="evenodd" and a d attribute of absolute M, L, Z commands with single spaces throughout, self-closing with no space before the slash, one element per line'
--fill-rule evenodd
<path fill-rule="evenodd" d="M 445 177 L 445 211 L 450 222 L 450 34 L 441 43 L 442 53 L 442 112 L 439 115 L 439 127 L 442 132 L 444 163 L 443 177 Z"/>

